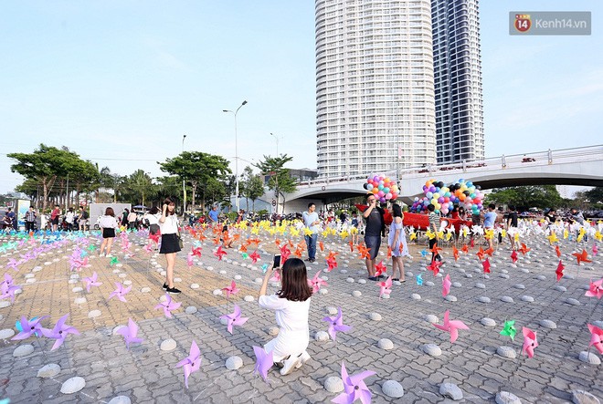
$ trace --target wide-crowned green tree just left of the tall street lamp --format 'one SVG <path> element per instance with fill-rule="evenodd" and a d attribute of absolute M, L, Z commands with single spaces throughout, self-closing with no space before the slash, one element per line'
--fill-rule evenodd
<path fill-rule="evenodd" d="M 201 205 L 204 212 L 209 181 L 212 179 L 225 180 L 227 174 L 231 172 L 228 168 L 228 161 L 224 157 L 202 151 L 183 151 L 174 159 L 166 159 L 164 162 L 157 162 L 157 164 L 159 164 L 161 171 L 177 175 L 180 181 L 185 180 L 186 183 L 190 184 L 193 191 L 193 206 L 195 206 L 196 192 L 200 190 Z"/>

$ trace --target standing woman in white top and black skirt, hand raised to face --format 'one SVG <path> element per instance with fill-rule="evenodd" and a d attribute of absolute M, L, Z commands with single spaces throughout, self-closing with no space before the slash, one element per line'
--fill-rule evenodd
<path fill-rule="evenodd" d="M 164 209 L 159 218 L 161 227 L 161 249 L 159 254 L 165 254 L 167 269 L 165 270 L 164 290 L 167 293 L 176 294 L 180 290 L 174 287 L 175 254 L 180 251 L 178 243 L 178 219 L 175 215 L 175 202 L 172 198 L 165 198 Z"/>

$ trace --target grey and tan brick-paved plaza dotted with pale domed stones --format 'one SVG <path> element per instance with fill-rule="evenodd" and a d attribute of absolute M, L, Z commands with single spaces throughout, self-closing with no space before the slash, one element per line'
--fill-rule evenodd
<path fill-rule="evenodd" d="M 176 287 L 183 293 L 172 295 L 182 306 L 174 311 L 173 318 L 154 309 L 164 296 L 161 272 L 165 261 L 162 255 L 144 250 L 144 232 L 129 234 L 132 255 L 128 257 L 122 252 L 121 238 L 116 238 L 113 253 L 117 260 L 98 256 L 98 233 L 73 233 L 62 241 L 53 241 L 48 235 L 33 240 L 5 236 L 0 240 L 0 264 L 13 276 L 14 284 L 21 285 L 22 293 L 16 295 L 12 305 L 10 299 L 0 301 L 0 333 L 4 337 L 0 339 L 0 399 L 14 403 L 91 403 L 124 396 L 132 403 L 330 402 L 340 393 L 327 390 L 325 381 L 341 377 L 343 361 L 350 375 L 363 370 L 376 372 L 365 378 L 375 403 L 451 402 L 440 394 L 443 383 L 460 388 L 462 402 L 494 402 L 501 392 L 512 393 L 524 403 L 571 402 L 572 392 L 577 390 L 603 398 L 601 366 L 578 358 L 588 351 L 587 324 L 601 326 L 603 320 L 603 306 L 598 299 L 585 295 L 589 282 L 603 276 L 600 258 L 592 256 L 592 238 L 576 243 L 560 236 L 557 243 L 565 271 L 559 282 L 555 269 L 560 259 L 542 233 L 524 234 L 521 241 L 531 251 L 518 254 L 516 264 L 511 260 L 508 242 L 498 246 L 489 258 L 489 276 L 483 274 L 476 245 L 469 253 L 460 253 L 457 262 L 450 246 L 445 248 L 445 264 L 440 275 L 434 277 L 426 268 L 430 256 L 427 243 L 421 240 L 411 245 L 413 259 L 406 262 L 406 283 L 394 285 L 389 298 L 379 298 L 378 283 L 366 280 L 364 260 L 357 251 L 350 252 L 347 240 L 339 234 L 321 238 L 324 250 L 318 254 L 320 259 L 308 265 L 309 277 L 323 270 L 328 284 L 312 296 L 308 348 L 312 359 L 285 377 L 277 368 L 270 369 L 267 384 L 253 373 L 253 347 L 267 343 L 276 326 L 274 313 L 257 303 L 263 277 L 261 265 L 271 262 L 276 238 L 283 243 L 291 239 L 295 244 L 302 241 L 302 236 L 241 230 L 240 240 L 258 237 L 261 241 L 256 264 L 236 248 L 227 249 L 224 259 L 218 261 L 209 230 L 206 236 L 199 241 L 185 234 L 185 249 L 178 254 L 175 269 Z M 189 266 L 186 254 L 194 245 L 201 246 L 202 254 L 195 256 Z M 36 249 L 39 252 L 45 246 L 44 253 L 29 256 L 26 262 L 11 261 L 25 261 L 28 253 Z M 89 258 L 79 270 L 71 270 L 69 264 L 74 248 L 86 251 Z M 578 266 L 572 253 L 583 248 L 592 263 Z M 252 244 L 249 254 L 254 250 Z M 324 257 L 329 252 L 338 253 L 338 266 L 327 273 Z M 380 254 L 391 274 L 385 247 Z M 82 279 L 94 272 L 102 285 L 92 287 L 89 293 Z M 444 298 L 441 275 L 447 274 L 452 286 L 450 295 Z M 422 285 L 418 285 L 417 275 L 422 276 Z M 227 300 L 218 291 L 233 280 L 241 290 Z M 132 285 L 132 291 L 124 295 L 127 303 L 117 298 L 109 300 L 115 282 Z M 269 291 L 276 291 L 277 286 L 271 283 Z M 231 313 L 234 305 L 249 320 L 235 326 L 231 335 L 218 317 Z M 336 341 L 317 340 L 316 333 L 328 328 L 323 317 L 333 316 L 337 307 L 342 309 L 344 324 L 353 329 L 338 333 Z M 448 332 L 431 324 L 434 320 L 443 324 L 447 310 L 450 319 L 461 320 L 470 328 L 461 329 L 453 344 Z M 80 334 L 69 335 L 56 350 L 50 350 L 53 342 L 46 337 L 11 340 L 10 330 L 18 333 L 16 320 L 21 316 L 49 316 L 42 324 L 52 327 L 66 314 L 67 324 L 75 326 Z M 139 326 L 138 337 L 143 342 L 127 349 L 124 338 L 114 334 L 114 328 L 126 325 L 129 318 Z M 514 340 L 500 333 L 507 320 L 515 320 Z M 521 352 L 524 326 L 537 334 L 539 346 L 532 358 Z M 163 350 L 162 343 L 170 338 L 175 348 Z M 202 363 L 199 371 L 188 378 L 189 388 L 185 389 L 183 369 L 175 365 L 188 356 L 193 340 L 201 351 Z M 430 344 L 435 346 L 436 356 L 426 353 Z M 27 353 L 27 347 L 21 348 L 25 356 L 16 357 L 16 349 L 24 346 L 32 346 L 33 351 Z M 592 360 L 600 363 L 597 349 L 591 347 L 589 352 Z M 230 370 L 227 358 L 235 356 L 242 359 L 242 366 Z M 49 378 L 38 377 L 38 370 L 50 363 L 58 364 L 60 372 Z M 62 393 L 63 383 L 74 377 L 83 378 L 85 387 L 72 394 Z M 384 392 L 389 380 L 404 388 L 402 397 Z"/>

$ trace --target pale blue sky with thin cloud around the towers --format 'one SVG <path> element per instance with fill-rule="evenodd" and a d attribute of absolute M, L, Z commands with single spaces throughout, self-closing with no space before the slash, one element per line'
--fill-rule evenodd
<path fill-rule="evenodd" d="M 510 11 L 591 11 L 591 36 L 509 36 Z M 601 143 L 603 2 L 482 0 L 486 157 Z M 314 2 L 0 3 L 0 193 L 40 143 L 127 175 L 218 154 L 316 168 Z M 235 110 L 238 111 L 235 141 Z M 272 133 L 273 135 L 270 135 Z M 183 136 L 186 135 L 184 145 Z M 236 150 L 237 149 L 237 150 Z"/>

